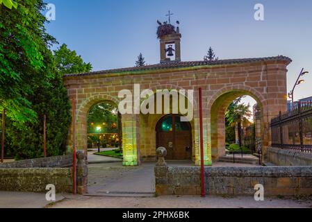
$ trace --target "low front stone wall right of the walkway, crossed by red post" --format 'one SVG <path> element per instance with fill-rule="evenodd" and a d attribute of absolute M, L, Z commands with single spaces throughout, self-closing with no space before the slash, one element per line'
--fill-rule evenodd
<path fill-rule="evenodd" d="M 155 167 L 156 194 L 199 195 L 199 167 Z M 254 186 L 265 196 L 312 195 L 312 167 L 206 167 L 205 189 L 210 195 L 253 196 Z"/>

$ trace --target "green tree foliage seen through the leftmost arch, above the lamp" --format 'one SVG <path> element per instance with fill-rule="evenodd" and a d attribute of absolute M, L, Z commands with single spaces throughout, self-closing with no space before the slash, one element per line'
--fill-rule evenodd
<path fill-rule="evenodd" d="M 101 133 L 118 133 L 117 108 L 110 103 L 94 105 L 88 114 L 88 133 L 97 133 L 97 126 Z"/>

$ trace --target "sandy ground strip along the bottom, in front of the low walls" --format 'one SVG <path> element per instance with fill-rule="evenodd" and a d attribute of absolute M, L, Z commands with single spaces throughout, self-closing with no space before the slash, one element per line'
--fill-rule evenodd
<path fill-rule="evenodd" d="M 70 197 L 69 197 L 70 198 Z M 154 198 L 120 198 L 79 196 L 65 199 L 54 208 L 312 208 L 311 200 L 267 198 L 256 202 L 252 197 L 222 198 L 209 196 L 160 196 Z"/>

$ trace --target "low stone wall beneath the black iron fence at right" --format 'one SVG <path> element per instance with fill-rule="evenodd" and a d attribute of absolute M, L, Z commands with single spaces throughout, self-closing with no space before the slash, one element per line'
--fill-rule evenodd
<path fill-rule="evenodd" d="M 312 166 L 312 153 L 300 153 L 270 147 L 265 161 L 277 166 Z"/>

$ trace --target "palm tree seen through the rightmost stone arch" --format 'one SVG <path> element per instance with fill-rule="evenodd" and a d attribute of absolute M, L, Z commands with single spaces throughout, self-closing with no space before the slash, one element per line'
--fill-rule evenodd
<path fill-rule="evenodd" d="M 240 103 L 243 97 L 240 97 L 233 101 L 225 113 L 227 128 L 238 127 L 238 141 L 242 146 L 241 128 L 242 125 L 249 123 L 248 117 L 251 117 L 250 105 Z M 231 136 L 231 134 L 229 134 Z"/>

